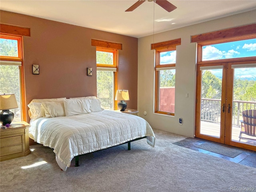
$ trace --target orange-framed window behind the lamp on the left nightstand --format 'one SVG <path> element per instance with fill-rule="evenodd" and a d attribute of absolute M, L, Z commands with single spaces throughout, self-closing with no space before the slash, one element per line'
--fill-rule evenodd
<path fill-rule="evenodd" d="M 22 68 L 22 37 L 0 35 L 0 92 L 14 93 L 18 108 L 14 112 L 14 122 L 25 120 L 23 112 L 24 84 Z"/>

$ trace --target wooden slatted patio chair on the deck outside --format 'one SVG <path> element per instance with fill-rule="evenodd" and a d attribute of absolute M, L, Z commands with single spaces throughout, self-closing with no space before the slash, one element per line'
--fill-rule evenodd
<path fill-rule="evenodd" d="M 241 131 L 239 135 L 239 141 L 241 139 L 256 140 L 256 110 L 244 110 L 242 115 L 243 120 L 240 120 Z M 245 136 L 242 136 L 242 134 L 245 134 Z M 246 135 L 255 137 L 255 139 L 252 137 L 246 137 Z"/>

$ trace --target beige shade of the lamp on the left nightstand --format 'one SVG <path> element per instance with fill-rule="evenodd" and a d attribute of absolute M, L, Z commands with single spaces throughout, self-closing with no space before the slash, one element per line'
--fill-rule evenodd
<path fill-rule="evenodd" d="M 18 104 L 13 93 L 0 94 L 0 110 L 18 108 Z"/>

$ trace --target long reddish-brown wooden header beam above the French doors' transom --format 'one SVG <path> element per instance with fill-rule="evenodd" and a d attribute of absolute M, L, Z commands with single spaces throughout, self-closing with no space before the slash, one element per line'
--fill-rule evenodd
<path fill-rule="evenodd" d="M 191 43 L 233 39 L 237 37 L 250 37 L 256 34 L 256 24 L 244 25 L 214 32 L 191 36 Z"/>

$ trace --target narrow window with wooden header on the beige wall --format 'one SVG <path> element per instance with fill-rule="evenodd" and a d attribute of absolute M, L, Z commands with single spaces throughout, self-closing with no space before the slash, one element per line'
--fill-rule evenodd
<path fill-rule="evenodd" d="M 174 116 L 176 46 L 181 39 L 151 44 L 155 50 L 154 112 Z"/>

